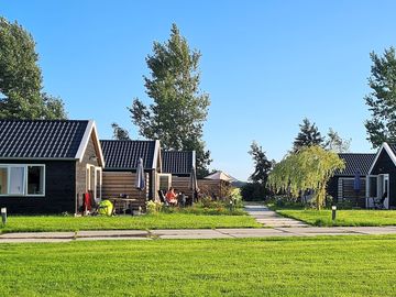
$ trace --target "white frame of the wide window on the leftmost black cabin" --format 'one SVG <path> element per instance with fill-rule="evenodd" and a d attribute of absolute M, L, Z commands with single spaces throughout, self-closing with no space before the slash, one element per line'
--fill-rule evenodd
<path fill-rule="evenodd" d="M 28 194 L 28 169 L 29 167 L 43 167 L 43 194 Z M 10 191 L 12 167 L 23 168 L 23 193 L 22 194 L 0 194 L 0 197 L 45 197 L 45 164 L 0 164 L 0 168 L 7 168 L 7 190 Z"/>

